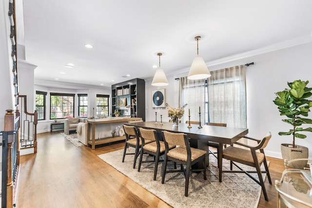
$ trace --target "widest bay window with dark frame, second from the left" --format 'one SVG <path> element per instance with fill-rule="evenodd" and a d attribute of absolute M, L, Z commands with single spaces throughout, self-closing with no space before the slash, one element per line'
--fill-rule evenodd
<path fill-rule="evenodd" d="M 50 93 L 50 119 L 74 117 L 75 94 Z"/>

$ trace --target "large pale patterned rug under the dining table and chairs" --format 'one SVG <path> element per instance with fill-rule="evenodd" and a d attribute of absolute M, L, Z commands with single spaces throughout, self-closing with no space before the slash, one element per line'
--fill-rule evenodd
<path fill-rule="evenodd" d="M 129 148 L 127 153 L 133 149 Z M 259 203 L 261 187 L 246 174 L 223 173 L 222 182 L 219 183 L 217 160 L 212 155 L 207 167 L 207 180 L 203 179 L 202 172 L 192 172 L 189 196 L 185 197 L 183 173 L 167 173 L 165 183 L 161 184 L 162 163 L 158 165 L 157 177 L 154 181 L 154 163 L 142 163 L 141 170 L 138 172 L 137 167 L 133 169 L 134 155 L 126 155 L 122 163 L 122 154 L 123 150 L 118 150 L 100 154 L 98 157 L 174 208 L 256 208 Z M 143 160 L 147 158 L 152 159 L 151 156 L 144 154 Z M 172 169 L 173 163 L 169 162 L 168 167 Z M 230 163 L 224 161 L 223 169 L 229 170 Z M 255 177 L 257 178 L 256 174 Z"/>

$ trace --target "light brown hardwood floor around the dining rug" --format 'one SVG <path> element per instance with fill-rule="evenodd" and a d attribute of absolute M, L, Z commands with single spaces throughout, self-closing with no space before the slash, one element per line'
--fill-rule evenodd
<path fill-rule="evenodd" d="M 170 208 L 158 197 L 98 158 L 123 149 L 124 143 L 75 147 L 60 132 L 38 134 L 38 152 L 20 156 L 16 207 L 20 208 Z M 272 185 L 269 202 L 261 194 L 258 208 L 276 208 L 275 179 L 281 159 L 267 158 Z"/>

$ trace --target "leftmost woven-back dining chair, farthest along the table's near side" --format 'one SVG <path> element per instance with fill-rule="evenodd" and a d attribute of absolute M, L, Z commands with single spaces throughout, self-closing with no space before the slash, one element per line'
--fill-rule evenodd
<path fill-rule="evenodd" d="M 134 126 L 123 125 L 126 135 L 125 147 L 122 155 L 122 162 L 125 160 L 125 155 L 134 154 L 133 168 L 136 168 L 137 157 L 140 154 L 140 147 L 142 145 L 141 139 L 138 136 L 137 129 Z M 135 148 L 135 153 L 127 153 L 128 147 Z"/>

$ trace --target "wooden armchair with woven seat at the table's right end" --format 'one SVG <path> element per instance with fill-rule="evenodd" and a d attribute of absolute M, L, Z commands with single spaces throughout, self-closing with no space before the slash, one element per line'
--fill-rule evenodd
<path fill-rule="evenodd" d="M 219 167 L 222 172 L 232 172 L 232 173 L 245 173 L 249 177 L 251 177 L 257 184 L 259 184 L 262 188 L 262 192 L 266 201 L 269 201 L 267 191 L 265 189 L 264 180 L 262 177 L 262 173 L 266 173 L 268 176 L 269 183 L 272 184 L 270 172 L 267 164 L 267 160 L 264 154 L 264 148 L 267 146 L 269 140 L 271 139 L 271 132 L 269 132 L 263 139 L 258 140 L 248 136 L 244 136 L 247 140 L 256 141 L 256 146 L 246 145 L 243 143 L 235 142 L 234 144 L 237 146 L 229 146 L 223 150 L 222 157 L 230 160 L 230 170 L 222 170 L 222 166 Z M 240 148 L 245 147 L 247 149 Z M 247 166 L 254 167 L 256 170 L 243 170 L 242 167 L 238 166 L 236 163 L 244 164 Z M 261 170 L 260 166 L 264 165 L 265 170 Z M 239 170 L 233 170 L 233 165 L 236 166 Z M 258 179 L 256 179 L 250 173 L 257 173 Z M 219 181 L 221 182 L 222 176 L 219 175 Z"/>

